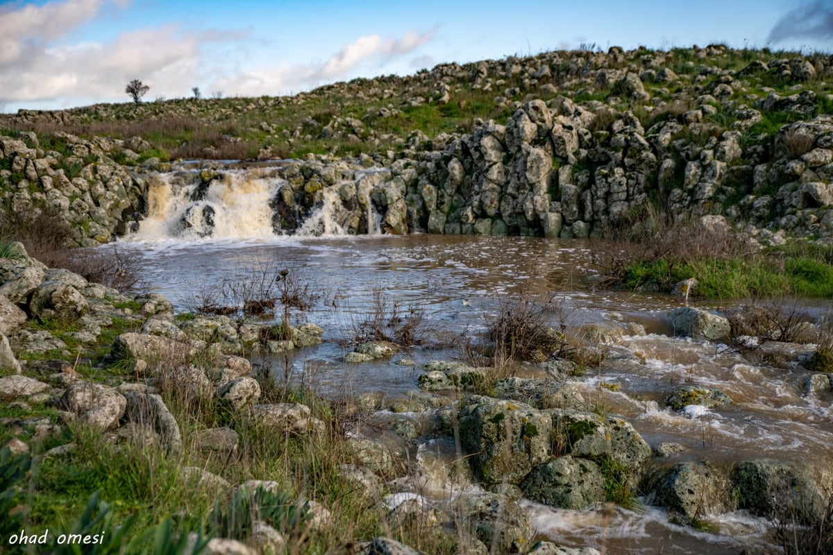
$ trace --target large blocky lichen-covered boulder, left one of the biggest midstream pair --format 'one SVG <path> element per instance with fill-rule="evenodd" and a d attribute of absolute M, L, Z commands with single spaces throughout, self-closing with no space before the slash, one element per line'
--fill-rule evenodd
<path fill-rule="evenodd" d="M 520 483 L 549 456 L 551 416 L 528 404 L 474 395 L 458 418 L 462 446 L 486 486 Z"/>

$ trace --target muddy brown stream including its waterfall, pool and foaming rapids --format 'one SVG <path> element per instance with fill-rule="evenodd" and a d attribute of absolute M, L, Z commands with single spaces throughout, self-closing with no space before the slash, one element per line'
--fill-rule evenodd
<path fill-rule="evenodd" d="M 199 305 L 224 280 L 252 272 L 286 268 L 309 284 L 312 308 L 294 312 L 292 320 L 321 325 L 325 341 L 294 352 L 288 371 L 323 394 L 376 395 L 383 398 L 382 406 L 407 401 L 421 393 L 420 364 L 461 356 L 465 338 L 485 329 L 486 320 L 501 310 L 501 300 L 526 292 L 555 299 L 559 310 L 553 318 L 569 326 L 644 326 L 646 334 L 626 335 L 610 347 L 601 370 L 576 381 L 587 399 L 628 419 L 649 444 L 675 442 L 686 448 L 671 461 L 833 458 L 830 392 L 804 393 L 801 381 L 809 373 L 798 364 L 776 368 L 725 346 L 672 337 L 666 312 L 682 305 L 680 299 L 597 288 L 594 255 L 611 245 L 526 237 L 339 235 L 342 228 L 330 218 L 337 199 L 327 196 L 302 226 L 307 235 L 275 235 L 268 201 L 283 185 L 229 172 L 195 193 L 159 176 L 147 219 L 122 245 L 141 255 L 147 290 L 166 295 L 179 310 Z M 367 221 L 377 222 L 372 203 L 367 201 L 366 208 Z M 345 364 L 345 345 L 380 303 L 402 314 L 424 313 L 429 340 L 392 359 Z M 808 302 L 805 308 L 818 318 L 831 306 Z M 287 370 L 282 356 L 259 363 Z M 546 375 L 535 365 L 522 367 L 521 373 Z M 666 396 L 683 384 L 716 387 L 736 404 L 688 414 L 665 408 Z M 449 481 L 447 468 L 455 458 L 453 442 L 420 444 L 414 476 L 392 484 L 392 490 L 442 502 L 476 489 L 465 473 Z M 566 511 L 526 500 L 522 506 L 541 537 L 568 547 L 604 547 L 609 553 L 738 553 L 742 545 L 760 547 L 768 524 L 731 513 L 711 519 L 714 528 L 706 533 L 673 524 L 653 507 Z"/>

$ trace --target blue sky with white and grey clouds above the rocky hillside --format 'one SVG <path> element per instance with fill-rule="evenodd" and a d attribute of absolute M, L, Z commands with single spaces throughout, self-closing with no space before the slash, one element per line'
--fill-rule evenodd
<path fill-rule="evenodd" d="M 833 0 L 0 0 L 0 112 L 276 96 L 582 45 L 833 53 Z"/>

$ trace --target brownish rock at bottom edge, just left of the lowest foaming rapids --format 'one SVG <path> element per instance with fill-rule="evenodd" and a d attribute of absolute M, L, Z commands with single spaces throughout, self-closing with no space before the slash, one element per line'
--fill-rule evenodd
<path fill-rule="evenodd" d="M 497 493 L 476 493 L 463 498 L 461 510 L 477 539 L 494 546 L 496 553 L 525 553 L 532 528 L 516 501 Z"/>

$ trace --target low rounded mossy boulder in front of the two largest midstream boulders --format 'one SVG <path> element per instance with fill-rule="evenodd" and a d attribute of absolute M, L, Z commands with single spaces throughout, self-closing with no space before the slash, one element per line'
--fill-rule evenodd
<path fill-rule="evenodd" d="M 605 500 L 601 468 L 589 459 L 569 455 L 534 468 L 521 489 L 527 498 L 558 508 L 582 510 Z"/>

